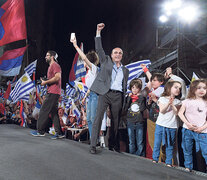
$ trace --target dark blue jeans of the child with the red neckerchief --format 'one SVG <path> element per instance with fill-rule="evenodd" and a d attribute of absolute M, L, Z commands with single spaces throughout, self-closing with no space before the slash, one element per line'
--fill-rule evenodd
<path fill-rule="evenodd" d="M 136 154 L 138 156 L 145 156 L 143 138 L 144 124 L 140 122 L 127 122 L 127 129 L 129 136 L 129 153 Z M 135 149 L 135 143 L 137 143 L 137 151 Z"/>

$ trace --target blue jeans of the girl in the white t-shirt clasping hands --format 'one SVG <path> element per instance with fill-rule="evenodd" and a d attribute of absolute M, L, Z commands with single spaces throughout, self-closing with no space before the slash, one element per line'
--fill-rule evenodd
<path fill-rule="evenodd" d="M 166 145 L 166 164 L 172 165 L 173 146 L 175 144 L 176 128 L 166 128 L 156 124 L 155 127 L 155 140 L 152 158 L 155 161 L 159 160 L 160 147 Z"/>

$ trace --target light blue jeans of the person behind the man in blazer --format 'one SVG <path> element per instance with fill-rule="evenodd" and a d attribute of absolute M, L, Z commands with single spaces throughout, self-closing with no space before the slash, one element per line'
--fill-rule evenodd
<path fill-rule="evenodd" d="M 97 104 L 98 104 L 98 95 L 91 91 L 89 94 L 89 99 L 87 102 L 87 110 L 86 110 L 88 130 L 90 136 L 92 131 L 92 125 L 96 116 Z"/>

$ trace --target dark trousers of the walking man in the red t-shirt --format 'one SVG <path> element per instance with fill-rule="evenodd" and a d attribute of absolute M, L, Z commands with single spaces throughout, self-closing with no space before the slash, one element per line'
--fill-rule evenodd
<path fill-rule="evenodd" d="M 51 114 L 52 121 L 54 123 L 55 132 L 62 134 L 60 120 L 58 116 L 58 94 L 47 94 L 46 98 L 40 109 L 39 118 L 37 120 L 37 131 L 40 134 L 45 133 L 45 129 L 48 126 L 48 116 Z"/>

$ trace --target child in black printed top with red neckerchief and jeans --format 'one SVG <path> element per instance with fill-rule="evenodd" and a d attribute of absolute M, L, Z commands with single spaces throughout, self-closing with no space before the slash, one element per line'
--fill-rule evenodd
<path fill-rule="evenodd" d="M 129 153 L 145 156 L 143 111 L 146 109 L 146 98 L 140 94 L 142 81 L 138 78 L 133 79 L 129 88 L 132 91 L 126 100 Z"/>

